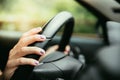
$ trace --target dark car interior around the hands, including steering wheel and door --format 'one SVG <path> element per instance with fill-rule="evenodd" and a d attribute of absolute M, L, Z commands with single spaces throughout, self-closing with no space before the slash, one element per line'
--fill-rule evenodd
<path fill-rule="evenodd" d="M 75 20 L 68 11 L 56 14 L 46 25 L 42 34 L 51 40 L 34 43 L 47 49 L 58 44 L 58 51 L 41 59 L 37 67 L 19 66 L 10 80 L 120 80 L 120 1 L 75 0 L 97 18 L 94 26 L 99 38 L 72 36 Z M 80 26 L 80 25 L 79 25 Z M 62 35 L 56 35 L 63 27 Z M 51 32 L 51 29 L 53 31 Z M 100 31 L 101 29 L 102 31 Z M 9 50 L 18 42 L 22 33 L 0 30 L 0 68 L 4 70 Z M 69 44 L 71 51 L 62 51 Z M 38 59 L 37 55 L 27 55 Z"/>

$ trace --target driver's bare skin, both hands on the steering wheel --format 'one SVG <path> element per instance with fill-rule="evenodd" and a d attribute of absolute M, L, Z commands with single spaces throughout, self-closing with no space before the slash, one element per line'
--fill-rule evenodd
<path fill-rule="evenodd" d="M 39 47 L 28 46 L 36 41 L 43 42 L 46 40 L 46 37 L 44 35 L 38 34 L 41 31 L 42 28 L 38 27 L 25 32 L 19 39 L 18 43 L 10 50 L 5 70 L 3 71 L 3 73 L 1 72 L 1 75 L 5 78 L 5 80 L 9 80 L 11 78 L 11 76 L 14 74 L 14 71 L 18 68 L 19 65 L 37 66 L 39 64 L 39 61 L 32 58 L 25 58 L 23 56 L 29 54 L 37 54 L 43 56 L 44 54 L 49 54 L 59 48 L 58 45 L 55 45 L 53 47 L 50 47 L 45 52 Z M 68 54 L 69 51 L 70 47 L 66 46 L 64 53 Z"/>

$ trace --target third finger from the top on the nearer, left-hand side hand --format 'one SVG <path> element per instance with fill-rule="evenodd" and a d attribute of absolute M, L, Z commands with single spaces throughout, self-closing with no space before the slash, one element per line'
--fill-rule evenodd
<path fill-rule="evenodd" d="M 19 58 L 29 54 L 44 55 L 45 51 L 39 47 L 22 47 L 19 53 L 14 56 L 14 58 Z"/>

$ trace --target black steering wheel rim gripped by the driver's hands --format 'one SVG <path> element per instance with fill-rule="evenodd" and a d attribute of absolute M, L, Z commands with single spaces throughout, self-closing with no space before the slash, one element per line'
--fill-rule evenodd
<path fill-rule="evenodd" d="M 69 43 L 74 26 L 74 18 L 71 15 L 71 13 L 67 11 L 60 12 L 55 17 L 53 17 L 47 24 L 44 25 L 43 32 L 40 33 L 45 35 L 47 38 L 52 39 L 63 25 L 65 26 L 62 38 L 59 42 L 58 51 L 64 51 L 65 46 Z M 46 40 L 42 43 L 35 42 L 32 44 L 32 46 L 37 46 L 45 49 L 48 43 L 49 40 Z M 25 57 L 34 58 L 38 60 L 40 56 L 27 55 Z M 30 65 L 19 66 L 10 80 L 30 80 L 33 69 L 34 67 Z"/>

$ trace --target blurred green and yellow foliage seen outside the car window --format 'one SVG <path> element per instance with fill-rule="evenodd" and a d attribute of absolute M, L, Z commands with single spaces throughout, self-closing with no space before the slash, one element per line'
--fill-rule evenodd
<path fill-rule="evenodd" d="M 96 18 L 75 0 L 0 0 L 0 4 L 2 29 L 26 31 L 69 11 L 75 18 L 75 33 L 95 33 Z"/>

